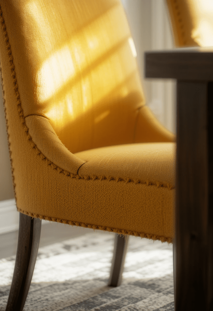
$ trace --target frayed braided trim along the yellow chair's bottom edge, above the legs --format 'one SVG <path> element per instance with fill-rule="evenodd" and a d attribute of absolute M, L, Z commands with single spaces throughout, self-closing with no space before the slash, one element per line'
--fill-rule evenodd
<path fill-rule="evenodd" d="M 86 224 L 83 222 L 77 222 L 77 221 L 72 221 L 72 220 L 64 220 L 64 219 L 60 219 L 60 218 L 53 218 L 53 217 L 49 217 L 49 216 L 43 216 L 43 215 L 39 215 L 39 214 L 35 214 L 35 213 L 30 213 L 28 211 L 23 211 L 21 208 L 17 207 L 17 211 L 31 216 L 32 218 L 40 218 L 43 220 L 49 220 L 49 221 L 55 221 L 55 222 L 60 222 L 63 224 L 67 224 L 67 225 L 72 225 L 72 226 L 80 226 L 80 227 L 84 227 L 84 228 L 90 228 L 95 230 L 104 230 L 104 231 L 109 231 L 109 232 L 116 232 L 118 234 L 128 234 L 128 235 L 134 235 L 134 236 L 140 236 L 141 239 L 142 238 L 146 238 L 146 239 L 153 239 L 153 240 L 160 240 L 161 242 L 168 242 L 168 243 L 173 243 L 173 239 L 170 237 L 164 237 L 164 236 L 159 236 L 156 234 L 147 234 L 147 233 L 139 233 L 137 231 L 132 231 L 132 230 L 124 230 L 124 229 L 118 229 L 118 228 L 111 228 L 111 227 L 104 227 L 104 226 L 100 226 L 100 225 L 91 225 L 91 224 Z"/>

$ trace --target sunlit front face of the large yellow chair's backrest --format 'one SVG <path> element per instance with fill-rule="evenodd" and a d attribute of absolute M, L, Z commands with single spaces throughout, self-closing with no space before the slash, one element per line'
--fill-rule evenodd
<path fill-rule="evenodd" d="M 25 121 L 47 118 L 72 153 L 133 142 L 144 99 L 120 2 L 7 0 L 1 6 Z"/>

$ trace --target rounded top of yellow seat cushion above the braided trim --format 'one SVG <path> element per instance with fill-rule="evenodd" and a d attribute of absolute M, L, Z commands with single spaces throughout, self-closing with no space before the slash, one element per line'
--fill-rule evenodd
<path fill-rule="evenodd" d="M 140 143 L 108 146 L 75 153 L 86 161 L 80 176 L 130 179 L 173 188 L 175 183 L 175 143 Z"/>

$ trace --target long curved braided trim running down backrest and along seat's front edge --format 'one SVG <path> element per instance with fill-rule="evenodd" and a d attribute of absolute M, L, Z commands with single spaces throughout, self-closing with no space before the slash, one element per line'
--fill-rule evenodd
<path fill-rule="evenodd" d="M 51 166 L 51 168 L 53 170 L 57 170 L 58 174 L 63 173 L 65 176 L 68 176 L 68 177 L 71 177 L 71 178 L 76 178 L 76 179 L 84 179 L 84 180 L 87 180 L 87 181 L 90 180 L 90 179 L 92 179 L 92 180 L 96 180 L 97 179 L 97 180 L 100 180 L 100 181 L 101 180 L 108 180 L 108 181 L 114 181 L 115 180 L 116 182 L 119 182 L 119 181 L 122 181 L 122 182 L 125 182 L 125 183 L 132 183 L 133 182 L 135 184 L 137 184 L 137 183 L 139 183 L 139 184 L 146 184 L 147 186 L 154 185 L 154 186 L 157 186 L 158 188 L 159 187 L 165 187 L 165 188 L 169 188 L 169 190 L 174 188 L 174 186 L 169 184 L 169 183 L 166 183 L 166 185 L 165 185 L 162 182 L 156 182 L 156 183 L 151 182 L 151 181 L 142 182 L 142 181 L 140 181 L 138 179 L 132 180 L 130 178 L 122 179 L 122 178 L 119 178 L 119 177 L 112 177 L 112 176 L 101 176 L 101 177 L 98 177 L 98 176 L 95 176 L 95 175 L 93 175 L 93 176 L 86 176 L 86 177 L 80 177 L 78 174 L 73 174 L 73 173 L 67 172 L 66 170 L 58 167 L 53 162 L 51 162 L 49 159 L 47 159 L 47 157 L 45 157 L 43 155 L 43 153 L 39 150 L 39 148 L 33 142 L 32 137 L 29 134 L 29 129 L 27 128 L 26 123 L 25 123 L 25 117 L 24 117 L 23 109 L 21 107 L 21 99 L 20 99 L 20 94 L 19 94 L 18 84 L 17 84 L 17 79 L 16 79 L 15 66 L 13 64 L 13 56 L 12 56 L 11 46 L 9 44 L 9 38 L 8 38 L 8 35 L 7 35 L 5 21 L 4 21 L 3 16 L 2 16 L 1 6 L 0 6 L 0 20 L 1 20 L 3 34 L 5 36 L 7 54 L 9 56 L 9 62 L 10 62 L 10 65 L 11 65 L 10 69 L 11 69 L 11 75 L 12 75 L 12 79 L 13 79 L 13 89 L 14 89 L 15 94 L 16 94 L 16 102 L 17 102 L 17 107 L 18 107 L 19 118 L 21 119 L 21 123 L 23 125 L 23 128 L 24 128 L 25 134 L 27 136 L 27 139 L 28 139 L 28 141 L 31 144 L 31 147 L 34 149 L 34 151 L 37 154 L 37 156 L 39 156 L 41 160 L 45 161 L 46 165 Z M 6 111 L 6 109 L 5 109 L 5 111 Z M 6 119 L 6 122 L 7 122 L 7 119 Z M 10 150 L 10 148 L 9 148 L 9 150 Z M 10 157 L 11 157 L 11 151 L 10 151 Z M 11 165 L 12 165 L 12 160 L 11 160 Z M 13 168 L 12 168 L 12 172 L 13 172 Z M 13 186 L 15 187 L 15 181 L 14 180 L 15 179 L 14 179 L 14 176 L 13 176 Z"/>

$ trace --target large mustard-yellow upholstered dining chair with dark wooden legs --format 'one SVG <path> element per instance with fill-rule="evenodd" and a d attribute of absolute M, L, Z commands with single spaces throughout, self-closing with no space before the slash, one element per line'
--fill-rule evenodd
<path fill-rule="evenodd" d="M 176 44 L 197 45 L 191 1 L 167 3 Z M 25 304 L 41 219 L 117 233 L 110 286 L 120 284 L 128 235 L 173 241 L 175 137 L 146 106 L 118 0 L 0 0 L 0 15 L 20 212 L 8 311 Z"/>

